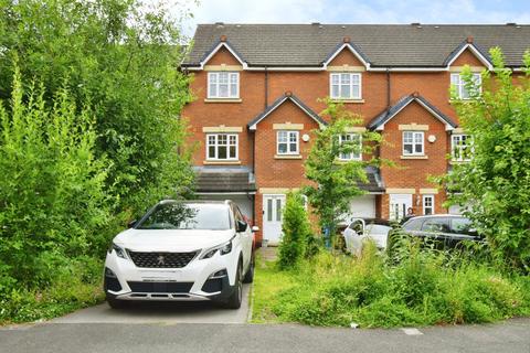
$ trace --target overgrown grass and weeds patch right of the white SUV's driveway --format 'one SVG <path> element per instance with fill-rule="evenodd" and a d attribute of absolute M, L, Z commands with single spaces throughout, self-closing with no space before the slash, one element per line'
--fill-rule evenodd
<path fill-rule="evenodd" d="M 370 246 L 359 259 L 322 252 L 290 271 L 262 263 L 254 291 L 255 322 L 391 328 L 530 314 L 528 277 L 415 246 L 399 265 Z"/>

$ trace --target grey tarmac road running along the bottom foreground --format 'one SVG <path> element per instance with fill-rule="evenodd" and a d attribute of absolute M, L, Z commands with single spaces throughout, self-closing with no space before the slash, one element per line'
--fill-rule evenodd
<path fill-rule="evenodd" d="M 466 352 L 529 353 L 530 319 L 490 325 L 403 330 L 295 324 L 43 323 L 0 329 L 6 353 Z"/>

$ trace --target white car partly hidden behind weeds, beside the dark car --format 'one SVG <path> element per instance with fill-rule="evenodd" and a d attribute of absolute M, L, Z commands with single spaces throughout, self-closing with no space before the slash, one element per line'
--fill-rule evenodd
<path fill-rule="evenodd" d="M 347 252 L 360 256 L 367 239 L 375 243 L 379 249 L 386 248 L 389 232 L 392 229 L 389 221 L 377 218 L 353 218 L 342 232 Z"/>

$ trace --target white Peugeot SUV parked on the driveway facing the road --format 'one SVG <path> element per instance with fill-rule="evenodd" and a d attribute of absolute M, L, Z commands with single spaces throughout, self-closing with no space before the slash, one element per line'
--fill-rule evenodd
<path fill-rule="evenodd" d="M 213 300 L 241 307 L 254 236 L 231 201 L 162 201 L 118 234 L 105 260 L 112 308 L 127 300 Z"/>

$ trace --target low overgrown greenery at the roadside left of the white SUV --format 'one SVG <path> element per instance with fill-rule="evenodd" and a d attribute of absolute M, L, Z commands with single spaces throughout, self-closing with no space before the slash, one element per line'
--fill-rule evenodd
<path fill-rule="evenodd" d="M 0 299 L 0 325 L 52 319 L 103 301 L 102 260 L 80 257 L 53 271 L 42 290 L 13 289 Z"/>

